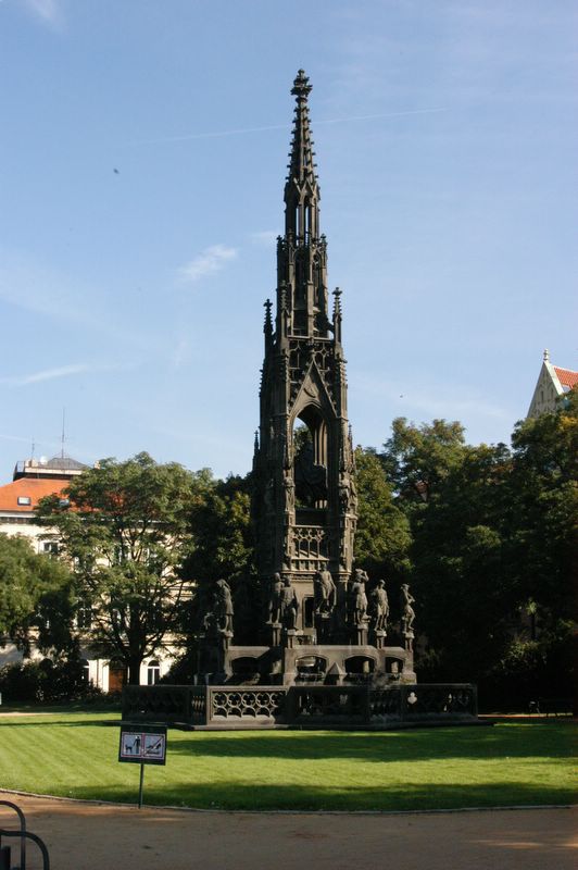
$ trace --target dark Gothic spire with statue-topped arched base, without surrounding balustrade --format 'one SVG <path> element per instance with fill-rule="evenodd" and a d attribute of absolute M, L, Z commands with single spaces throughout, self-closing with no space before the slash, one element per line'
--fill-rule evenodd
<path fill-rule="evenodd" d="M 227 680 L 290 685 L 413 682 L 413 631 L 387 646 L 387 593 L 354 570 L 355 461 L 348 421 L 341 293 L 327 289 L 302 70 L 277 239 L 275 318 L 265 302 L 261 419 L 253 460 L 256 561 L 265 591 L 261 645 L 227 644 Z"/>

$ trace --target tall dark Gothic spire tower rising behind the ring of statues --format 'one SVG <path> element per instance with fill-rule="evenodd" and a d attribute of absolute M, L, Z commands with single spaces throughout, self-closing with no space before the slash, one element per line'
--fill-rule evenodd
<path fill-rule="evenodd" d="M 340 290 L 329 320 L 327 244 L 319 234 L 310 92 L 309 78 L 300 70 L 291 90 L 296 109 L 284 196 L 285 234 L 277 240 L 274 330 L 266 303 L 253 518 L 263 588 L 276 573 L 289 577 L 299 602 L 296 631 L 347 643 L 353 637 L 345 602 L 356 492 Z M 328 612 L 322 619 L 315 610 L 314 577 L 322 571 L 337 587 L 339 608 L 330 619 Z"/>

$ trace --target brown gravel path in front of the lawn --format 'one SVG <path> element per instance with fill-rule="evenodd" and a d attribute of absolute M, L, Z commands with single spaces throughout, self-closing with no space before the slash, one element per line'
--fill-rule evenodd
<path fill-rule="evenodd" d="M 25 811 L 52 870 L 574 870 L 578 858 L 576 809 L 253 815 L 2 798 Z M 13 818 L 0 807 L 0 826 Z"/>

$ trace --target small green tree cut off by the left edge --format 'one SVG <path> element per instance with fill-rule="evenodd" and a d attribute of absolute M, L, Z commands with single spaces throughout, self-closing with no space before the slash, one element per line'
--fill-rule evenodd
<path fill-rule="evenodd" d="M 0 645 L 11 639 L 60 652 L 72 643 L 72 576 L 55 559 L 34 552 L 29 540 L 0 534 Z"/>

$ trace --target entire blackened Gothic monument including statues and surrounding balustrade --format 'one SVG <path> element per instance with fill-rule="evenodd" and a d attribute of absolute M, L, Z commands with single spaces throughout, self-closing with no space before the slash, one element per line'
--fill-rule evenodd
<path fill-rule="evenodd" d="M 234 601 L 219 580 L 203 619 L 194 685 L 128 686 L 126 718 L 210 728 L 475 719 L 474 686 L 415 684 L 409 587 L 393 633 L 385 581 L 369 580 L 353 561 L 357 497 L 341 294 L 334 291 L 330 310 L 310 91 L 300 70 L 275 319 L 265 302 L 252 502 L 260 633 L 254 645 L 235 644 Z"/>

